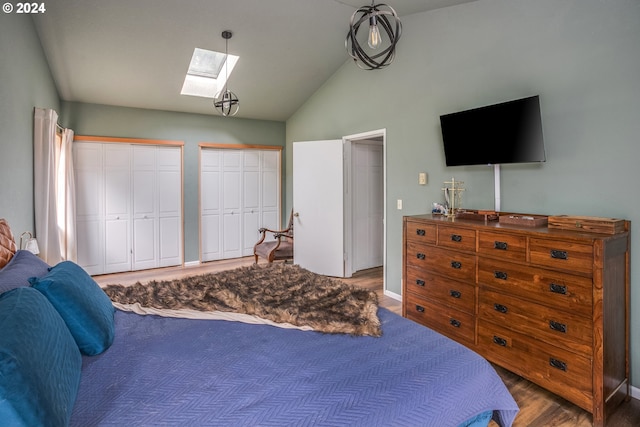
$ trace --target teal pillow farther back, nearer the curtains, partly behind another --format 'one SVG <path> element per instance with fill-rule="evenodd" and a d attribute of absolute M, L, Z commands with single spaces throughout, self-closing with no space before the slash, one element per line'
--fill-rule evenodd
<path fill-rule="evenodd" d="M 113 343 L 115 309 L 102 288 L 71 261 L 63 261 L 41 278 L 30 279 L 64 319 L 78 348 L 94 356 Z"/>

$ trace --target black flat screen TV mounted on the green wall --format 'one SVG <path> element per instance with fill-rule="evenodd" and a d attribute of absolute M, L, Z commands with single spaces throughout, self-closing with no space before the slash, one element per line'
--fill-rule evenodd
<path fill-rule="evenodd" d="M 440 116 L 447 166 L 544 162 L 540 99 Z"/>

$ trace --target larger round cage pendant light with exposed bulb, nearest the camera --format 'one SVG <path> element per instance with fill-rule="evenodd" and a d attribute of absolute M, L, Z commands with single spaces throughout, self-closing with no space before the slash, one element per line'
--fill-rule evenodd
<path fill-rule="evenodd" d="M 367 37 L 369 52 L 365 51 L 357 39 L 360 25 L 364 22 L 369 23 Z M 380 32 L 380 27 L 384 30 L 388 43 Z M 358 67 L 363 70 L 378 70 L 393 62 L 396 56 L 396 44 L 401 34 L 402 22 L 396 11 L 386 4 L 374 4 L 372 0 L 371 6 L 362 6 L 351 15 L 349 33 L 344 46 Z M 386 47 L 383 48 L 383 45 Z"/>

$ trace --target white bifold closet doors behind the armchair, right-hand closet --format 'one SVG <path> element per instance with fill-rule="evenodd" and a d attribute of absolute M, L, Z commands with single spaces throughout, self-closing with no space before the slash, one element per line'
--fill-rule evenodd
<path fill-rule="evenodd" d="M 201 260 L 253 255 L 258 229 L 280 228 L 279 203 L 279 150 L 202 148 Z"/>

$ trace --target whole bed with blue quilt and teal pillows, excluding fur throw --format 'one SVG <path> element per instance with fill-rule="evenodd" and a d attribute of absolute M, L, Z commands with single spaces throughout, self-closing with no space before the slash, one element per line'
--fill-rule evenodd
<path fill-rule="evenodd" d="M 3 426 L 508 427 L 518 411 L 485 359 L 382 308 L 380 337 L 143 316 L 72 262 L 0 259 Z"/>

